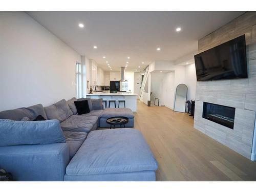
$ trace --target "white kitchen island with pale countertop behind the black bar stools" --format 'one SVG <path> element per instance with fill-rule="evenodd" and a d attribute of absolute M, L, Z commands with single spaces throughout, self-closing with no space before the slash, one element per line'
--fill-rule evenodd
<path fill-rule="evenodd" d="M 103 91 L 103 92 L 93 92 L 93 94 L 87 94 L 87 98 L 92 98 L 92 99 L 102 98 L 103 100 L 108 101 L 108 106 L 109 106 L 109 100 L 115 100 L 117 108 L 118 108 L 118 100 L 125 100 L 126 108 L 130 108 L 133 112 L 137 111 L 137 94 L 110 93 L 109 91 Z M 123 108 L 123 107 L 124 107 L 123 102 L 121 102 L 120 108 Z"/>

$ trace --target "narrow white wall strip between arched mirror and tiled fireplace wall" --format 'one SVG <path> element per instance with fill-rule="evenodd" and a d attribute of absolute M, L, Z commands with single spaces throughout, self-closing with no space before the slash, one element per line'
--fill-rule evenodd
<path fill-rule="evenodd" d="M 196 99 L 197 75 L 195 63 L 185 66 L 185 84 L 187 100 Z"/>

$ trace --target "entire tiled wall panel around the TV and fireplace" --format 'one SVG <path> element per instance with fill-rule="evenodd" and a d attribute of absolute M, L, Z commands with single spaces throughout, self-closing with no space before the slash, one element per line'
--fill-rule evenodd
<path fill-rule="evenodd" d="M 256 111 L 256 12 L 246 12 L 198 41 L 198 52 L 246 36 L 248 78 L 198 81 L 195 129 L 250 158 Z M 202 118 L 203 102 L 236 108 L 234 129 Z"/>

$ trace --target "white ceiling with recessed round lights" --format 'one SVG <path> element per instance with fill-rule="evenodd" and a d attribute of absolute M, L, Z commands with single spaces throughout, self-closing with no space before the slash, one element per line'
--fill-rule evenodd
<path fill-rule="evenodd" d="M 153 60 L 172 60 L 197 50 L 198 39 L 241 15 L 239 11 L 30 11 L 38 23 L 81 55 L 113 71 L 127 71 Z M 78 27 L 83 23 L 84 28 Z M 179 33 L 176 28 L 181 27 Z M 93 49 L 97 46 L 97 49 Z M 161 51 L 156 51 L 160 47 Z M 106 56 L 106 59 L 102 57 Z M 131 59 L 127 59 L 131 57 Z M 144 62 L 144 65 L 141 64 Z"/>

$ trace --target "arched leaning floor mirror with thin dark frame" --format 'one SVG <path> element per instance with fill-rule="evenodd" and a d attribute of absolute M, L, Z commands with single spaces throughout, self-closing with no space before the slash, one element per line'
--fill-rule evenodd
<path fill-rule="evenodd" d="M 174 111 L 185 113 L 187 100 L 187 86 L 179 84 L 176 88 Z"/>

